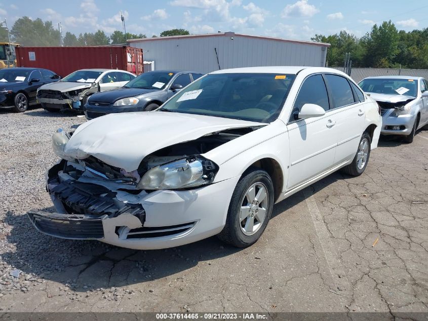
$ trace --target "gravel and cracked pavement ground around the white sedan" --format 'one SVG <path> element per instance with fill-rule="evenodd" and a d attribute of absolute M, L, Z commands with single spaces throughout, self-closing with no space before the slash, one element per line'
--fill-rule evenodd
<path fill-rule="evenodd" d="M 428 131 L 382 140 L 362 176 L 277 204 L 249 248 L 213 237 L 134 251 L 49 237 L 25 215 L 53 209 L 52 133 L 84 121 L 0 111 L 1 311 L 428 312 Z"/>

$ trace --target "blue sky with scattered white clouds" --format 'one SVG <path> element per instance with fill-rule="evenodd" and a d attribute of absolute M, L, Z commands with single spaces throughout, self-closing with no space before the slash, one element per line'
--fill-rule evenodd
<path fill-rule="evenodd" d="M 234 31 L 310 40 L 340 30 L 361 37 L 374 23 L 392 20 L 399 30 L 428 27 L 428 3 L 407 0 L 0 0 L 0 19 L 8 25 L 22 16 L 62 24 L 70 31 L 110 34 L 122 30 L 147 37 L 184 28 L 190 33 Z"/>

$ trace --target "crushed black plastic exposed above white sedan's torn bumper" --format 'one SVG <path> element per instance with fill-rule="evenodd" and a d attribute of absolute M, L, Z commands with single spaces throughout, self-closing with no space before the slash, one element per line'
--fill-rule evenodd
<path fill-rule="evenodd" d="M 54 184 L 58 185 L 54 185 Z M 69 213 L 93 215 L 97 217 L 116 217 L 127 213 L 145 220 L 145 211 L 141 204 L 114 201 L 115 193 L 106 187 L 91 183 L 57 180 L 49 182 L 49 190 L 64 204 Z"/>

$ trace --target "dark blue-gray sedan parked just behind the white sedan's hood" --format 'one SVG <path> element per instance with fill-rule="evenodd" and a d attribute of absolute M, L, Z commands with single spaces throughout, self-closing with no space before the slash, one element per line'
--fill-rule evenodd
<path fill-rule="evenodd" d="M 111 113 L 153 111 L 202 76 L 179 70 L 144 73 L 122 88 L 91 95 L 84 105 L 85 116 L 93 119 Z"/>

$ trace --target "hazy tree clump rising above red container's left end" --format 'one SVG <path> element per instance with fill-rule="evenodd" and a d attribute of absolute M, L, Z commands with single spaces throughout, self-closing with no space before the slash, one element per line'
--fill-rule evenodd
<path fill-rule="evenodd" d="M 22 17 L 15 21 L 11 34 L 23 46 L 59 46 L 59 31 L 54 29 L 52 21 Z"/>

